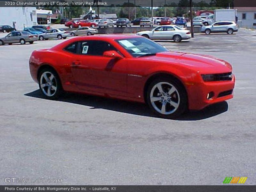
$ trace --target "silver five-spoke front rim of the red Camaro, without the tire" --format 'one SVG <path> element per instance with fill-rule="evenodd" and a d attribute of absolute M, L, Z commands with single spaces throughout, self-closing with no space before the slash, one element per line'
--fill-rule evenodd
<path fill-rule="evenodd" d="M 174 113 L 180 105 L 180 95 L 176 87 L 168 82 L 159 82 L 150 92 L 153 108 L 163 115 Z"/>

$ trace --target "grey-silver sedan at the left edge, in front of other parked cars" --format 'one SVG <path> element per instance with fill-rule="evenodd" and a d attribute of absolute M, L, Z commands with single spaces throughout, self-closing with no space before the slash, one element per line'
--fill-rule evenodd
<path fill-rule="evenodd" d="M 26 44 L 26 42 L 33 44 L 34 41 L 37 41 L 38 36 L 33 35 L 27 31 L 15 31 L 9 33 L 7 36 L 0 38 L 0 45 L 4 44 L 13 44 L 13 43 L 20 43 Z"/>

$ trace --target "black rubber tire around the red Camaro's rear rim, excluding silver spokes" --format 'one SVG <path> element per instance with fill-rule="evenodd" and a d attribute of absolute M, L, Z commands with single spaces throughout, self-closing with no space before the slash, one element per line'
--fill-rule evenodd
<path fill-rule="evenodd" d="M 45 86 L 43 88 L 41 87 L 41 83 L 46 84 L 45 78 L 42 77 L 44 73 L 46 73 L 47 77 L 50 77 L 50 74 L 52 74 L 54 76 L 54 78 L 52 79 L 51 85 L 55 86 L 56 90 L 53 90 L 53 88 L 51 86 L 50 93 L 52 93 L 52 95 L 50 95 L 50 96 L 48 96 L 46 94 L 46 91 L 48 93 L 49 86 Z M 42 94 L 44 95 L 44 98 L 46 98 L 46 99 L 55 100 L 55 99 L 59 98 L 60 95 L 63 92 L 62 85 L 61 85 L 61 82 L 60 82 L 60 78 L 59 78 L 57 72 L 55 70 L 53 70 L 52 68 L 44 68 L 42 71 L 40 71 L 39 77 L 38 77 L 38 84 L 39 84 L 40 91 L 42 92 Z M 44 89 L 44 91 L 43 91 L 43 89 Z"/>

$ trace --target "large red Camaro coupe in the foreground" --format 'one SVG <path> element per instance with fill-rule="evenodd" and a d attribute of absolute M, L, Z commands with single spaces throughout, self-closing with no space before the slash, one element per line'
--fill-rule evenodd
<path fill-rule="evenodd" d="M 34 51 L 29 68 L 47 99 L 65 91 L 145 102 L 164 118 L 231 99 L 235 85 L 224 60 L 134 35 L 72 38 Z"/>

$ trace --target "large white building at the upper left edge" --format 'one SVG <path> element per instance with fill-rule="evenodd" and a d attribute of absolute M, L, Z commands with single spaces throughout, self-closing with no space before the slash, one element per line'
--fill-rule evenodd
<path fill-rule="evenodd" d="M 23 30 L 24 27 L 36 24 L 36 7 L 0 7 L 0 25 Z"/>

